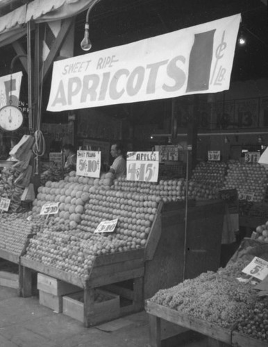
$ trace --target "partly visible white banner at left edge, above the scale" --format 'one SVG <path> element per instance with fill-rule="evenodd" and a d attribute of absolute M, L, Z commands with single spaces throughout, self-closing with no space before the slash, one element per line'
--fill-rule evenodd
<path fill-rule="evenodd" d="M 21 83 L 22 71 L 0 77 L 0 108 L 10 105 L 10 97 L 13 106 L 19 105 Z"/>

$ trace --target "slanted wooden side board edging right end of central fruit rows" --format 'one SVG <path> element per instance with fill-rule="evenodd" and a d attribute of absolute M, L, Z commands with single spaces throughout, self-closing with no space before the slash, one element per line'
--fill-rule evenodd
<path fill-rule="evenodd" d="M 156 214 L 156 218 L 153 221 L 153 225 L 151 226 L 151 231 L 148 235 L 148 239 L 145 247 L 145 260 L 152 260 L 153 255 L 156 252 L 156 247 L 158 246 L 158 242 L 161 237 L 162 232 L 162 222 L 161 222 L 161 208 L 162 202 L 158 205 L 158 212 Z"/>

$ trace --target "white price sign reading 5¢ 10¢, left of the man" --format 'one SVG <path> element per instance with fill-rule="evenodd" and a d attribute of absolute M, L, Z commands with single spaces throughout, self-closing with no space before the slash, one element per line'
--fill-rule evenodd
<path fill-rule="evenodd" d="M 101 173 L 100 151 L 77 151 L 76 175 L 99 178 Z"/>

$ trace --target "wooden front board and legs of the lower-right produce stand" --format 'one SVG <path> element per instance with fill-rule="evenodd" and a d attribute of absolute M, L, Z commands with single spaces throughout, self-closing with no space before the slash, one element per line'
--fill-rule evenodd
<path fill-rule="evenodd" d="M 180 325 L 183 328 L 194 330 L 206 335 L 207 337 L 210 337 L 211 339 L 215 339 L 218 341 L 218 346 L 231 346 L 233 327 L 230 329 L 221 328 L 201 319 L 196 319 L 195 317 L 181 314 L 176 310 L 153 303 L 149 300 L 145 303 L 145 310 L 147 314 L 149 314 L 150 347 L 161 347 L 161 319 L 176 325 Z M 244 346 L 249 345 L 245 344 Z"/>

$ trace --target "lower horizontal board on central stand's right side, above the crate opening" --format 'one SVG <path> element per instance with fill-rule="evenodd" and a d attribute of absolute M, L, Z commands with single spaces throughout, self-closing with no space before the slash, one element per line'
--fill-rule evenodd
<path fill-rule="evenodd" d="M 105 277 L 100 276 L 96 278 L 90 278 L 87 282 L 89 287 L 101 287 L 103 285 L 110 285 L 110 283 L 122 282 L 124 280 L 131 280 L 132 278 L 138 278 L 144 275 L 144 267 L 140 269 L 133 269 L 124 272 L 110 273 Z"/>

